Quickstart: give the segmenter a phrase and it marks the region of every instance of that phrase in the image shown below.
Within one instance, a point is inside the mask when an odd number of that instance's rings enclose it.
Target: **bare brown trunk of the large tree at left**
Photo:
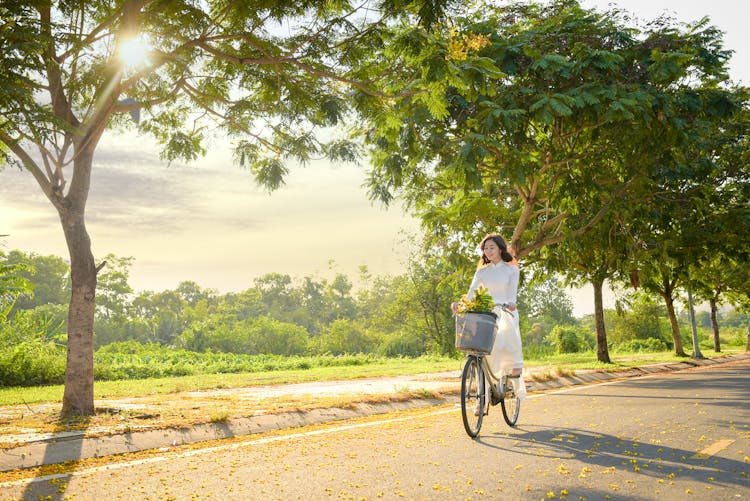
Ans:
[[[79,152],[70,192],[58,207],[70,254],[68,354],[62,403],[62,414],[68,417],[94,414],[94,299],[98,270],[84,217],[92,160],[93,151]]]

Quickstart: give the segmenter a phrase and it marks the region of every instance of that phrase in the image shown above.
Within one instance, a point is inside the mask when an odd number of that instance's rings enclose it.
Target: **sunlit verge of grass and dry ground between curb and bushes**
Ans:
[[[744,352],[726,350],[721,355]],[[705,353],[713,356],[714,353]],[[612,364],[602,364],[596,354],[580,353],[527,360],[530,381],[545,381],[566,376],[582,369],[616,371],[659,362],[688,360],[670,353],[611,354]],[[258,414],[305,412],[319,408],[352,408],[359,404],[379,404],[412,399],[442,398],[455,390],[455,378],[446,378],[445,387],[437,390],[395,386],[388,394],[289,395],[284,398],[264,396],[264,392],[221,391],[275,384],[311,381],[352,380],[451,371],[457,374],[463,358],[384,359],[368,365],[317,367],[245,374],[212,374],[125,381],[102,381],[94,385],[97,413],[81,422],[61,421],[60,402],[63,387],[42,386],[0,389],[0,434],[18,433],[19,429],[35,433],[62,430],[84,430],[89,435],[103,430],[135,432],[141,429],[184,427],[201,423],[222,425],[232,419]],[[200,390],[218,390],[201,392]],[[457,391],[457,390],[456,390]],[[183,392],[183,393],[180,393]],[[106,401],[112,399],[112,401]],[[0,442],[0,450],[12,447]]]

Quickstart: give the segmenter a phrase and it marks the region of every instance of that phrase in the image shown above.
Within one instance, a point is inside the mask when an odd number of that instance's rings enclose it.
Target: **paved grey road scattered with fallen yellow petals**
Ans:
[[[750,499],[749,382],[741,361],[530,395],[478,440],[448,405],[120,456],[0,499]]]

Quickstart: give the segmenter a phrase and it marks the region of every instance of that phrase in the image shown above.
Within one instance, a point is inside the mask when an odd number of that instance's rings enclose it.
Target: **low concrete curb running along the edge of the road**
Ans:
[[[750,359],[750,354],[742,353],[713,359],[691,359],[679,363],[647,365],[617,372],[578,371],[572,375],[560,375],[547,381],[527,381],[527,388],[529,392],[541,392],[568,386],[595,384],[607,380],[626,379],[748,359]],[[0,472],[149,449],[169,449],[170,447],[196,442],[248,436],[451,402],[456,402],[455,396],[357,403],[347,408],[321,408],[304,412],[262,414],[228,419],[221,423],[196,424],[184,428],[102,433],[97,436],[86,436],[85,431],[63,432],[49,437],[28,440],[14,447],[0,449]]]

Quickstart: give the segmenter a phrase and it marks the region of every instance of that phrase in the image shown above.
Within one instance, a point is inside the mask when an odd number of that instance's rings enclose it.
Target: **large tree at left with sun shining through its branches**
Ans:
[[[132,117],[173,161],[202,154],[208,128],[221,126],[236,140],[238,162],[277,188],[285,160],[353,157],[347,142],[322,143],[313,131],[336,125],[352,95],[356,103],[378,93],[381,75],[358,61],[382,46],[389,17],[431,24],[445,3],[385,0],[373,19],[369,2],[345,0],[3,2],[0,151],[33,175],[57,210],[70,255],[63,414],[94,412],[103,264],[92,253],[85,208],[105,131]]]

